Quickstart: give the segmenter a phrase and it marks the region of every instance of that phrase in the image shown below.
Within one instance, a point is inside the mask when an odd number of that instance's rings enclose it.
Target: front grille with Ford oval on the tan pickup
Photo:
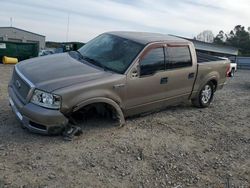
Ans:
[[[12,82],[16,92],[25,100],[30,91],[30,86],[17,74],[15,69],[13,71]]]

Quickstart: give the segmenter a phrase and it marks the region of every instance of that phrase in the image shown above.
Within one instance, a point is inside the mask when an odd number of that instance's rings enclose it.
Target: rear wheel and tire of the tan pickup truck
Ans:
[[[207,108],[213,100],[214,91],[214,84],[212,82],[206,83],[199,92],[199,96],[192,99],[192,104],[198,108]]]

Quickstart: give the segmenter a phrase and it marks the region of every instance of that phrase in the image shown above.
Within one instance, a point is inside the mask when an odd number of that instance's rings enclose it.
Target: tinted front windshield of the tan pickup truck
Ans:
[[[90,63],[123,74],[142,48],[142,44],[131,40],[102,34],[78,51]]]

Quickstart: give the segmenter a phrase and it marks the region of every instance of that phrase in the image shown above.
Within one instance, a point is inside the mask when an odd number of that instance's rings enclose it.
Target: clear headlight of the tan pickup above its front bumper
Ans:
[[[30,102],[45,108],[59,109],[61,106],[61,97],[36,89]]]

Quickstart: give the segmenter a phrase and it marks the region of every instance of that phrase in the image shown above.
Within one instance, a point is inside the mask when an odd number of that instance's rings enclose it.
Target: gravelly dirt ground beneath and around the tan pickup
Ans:
[[[0,188],[250,187],[250,71],[209,108],[169,107],[123,128],[92,119],[67,142],[20,127],[8,105],[12,68],[0,65]]]

